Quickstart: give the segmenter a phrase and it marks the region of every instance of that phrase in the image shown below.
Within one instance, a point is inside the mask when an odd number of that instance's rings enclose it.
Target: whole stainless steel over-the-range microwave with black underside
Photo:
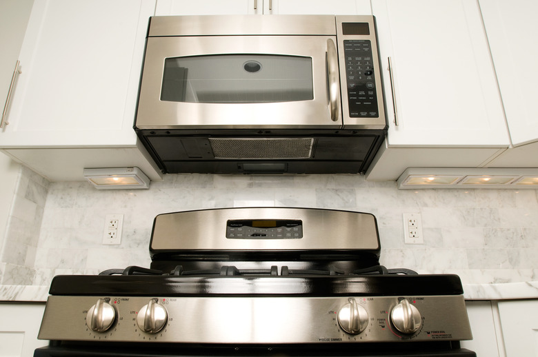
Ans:
[[[166,173],[363,173],[386,134],[372,16],[152,17],[135,130]]]

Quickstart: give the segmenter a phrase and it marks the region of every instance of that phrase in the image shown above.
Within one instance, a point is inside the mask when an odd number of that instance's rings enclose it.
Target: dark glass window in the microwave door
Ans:
[[[161,101],[275,103],[312,99],[310,57],[211,54],[164,62]]]

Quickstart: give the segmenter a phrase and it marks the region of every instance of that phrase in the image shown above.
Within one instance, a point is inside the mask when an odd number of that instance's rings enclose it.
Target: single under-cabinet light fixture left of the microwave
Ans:
[[[150,179],[138,167],[84,169],[83,176],[97,190],[150,188]]]

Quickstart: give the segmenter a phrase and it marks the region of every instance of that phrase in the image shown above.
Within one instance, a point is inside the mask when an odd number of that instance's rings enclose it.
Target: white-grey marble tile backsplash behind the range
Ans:
[[[157,214],[287,206],[375,214],[381,263],[389,268],[455,273],[464,283],[537,281],[537,193],[397,190],[394,182],[373,183],[357,175],[168,174],[152,182],[150,190],[113,191],[94,190],[86,182],[41,183],[17,196],[22,200],[17,210],[23,214],[14,210],[0,272],[3,284],[48,285],[57,274],[147,267]],[[421,245],[403,243],[402,214],[413,212],[422,216]],[[35,214],[32,222],[41,221],[39,227],[26,227],[30,214]],[[106,214],[123,214],[121,245],[101,244]]]

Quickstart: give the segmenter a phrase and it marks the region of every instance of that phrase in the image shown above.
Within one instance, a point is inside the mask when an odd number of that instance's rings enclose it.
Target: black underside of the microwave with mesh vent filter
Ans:
[[[385,130],[137,130],[163,173],[363,174]]]

